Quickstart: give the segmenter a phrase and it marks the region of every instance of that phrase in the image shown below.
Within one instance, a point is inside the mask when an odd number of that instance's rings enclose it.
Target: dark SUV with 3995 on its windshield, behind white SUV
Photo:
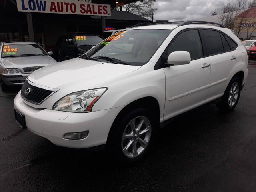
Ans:
[[[54,55],[58,62],[81,56],[104,38],[94,33],[75,33],[58,38]]]

